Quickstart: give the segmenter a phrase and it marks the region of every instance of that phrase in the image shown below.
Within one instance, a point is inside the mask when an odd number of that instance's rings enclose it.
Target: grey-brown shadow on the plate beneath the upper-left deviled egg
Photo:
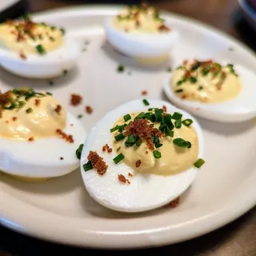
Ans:
[[[52,87],[65,87],[68,86],[78,75],[78,67],[75,66],[74,69],[69,72],[63,70],[63,75],[58,78],[52,79],[30,79],[22,78],[18,75],[11,74],[7,70],[0,68],[1,82],[10,90],[13,88],[26,87],[28,84],[33,84],[34,90],[50,90]],[[0,88],[1,89],[1,88]]]

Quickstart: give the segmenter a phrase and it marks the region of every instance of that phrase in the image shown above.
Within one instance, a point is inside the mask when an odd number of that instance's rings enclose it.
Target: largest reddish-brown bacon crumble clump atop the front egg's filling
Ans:
[[[146,119],[135,119],[126,126],[123,134],[128,136],[133,134],[134,137],[140,137],[144,139],[150,150],[154,150],[154,143],[152,142],[152,136],[158,136],[163,138],[165,135],[160,130],[154,128],[154,125],[149,125],[149,121]]]

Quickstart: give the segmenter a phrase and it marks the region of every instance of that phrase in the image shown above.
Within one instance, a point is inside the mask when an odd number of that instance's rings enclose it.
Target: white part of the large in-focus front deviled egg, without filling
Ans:
[[[198,170],[194,167],[182,173],[169,176],[142,174],[135,172],[134,169],[127,166],[124,162],[119,162],[116,165],[113,162],[113,158],[117,155],[114,150],[111,154],[102,152],[103,145],[106,143],[110,147],[112,145],[113,138],[110,128],[125,114],[147,111],[149,107],[162,108],[164,105],[167,107],[168,113],[178,111],[183,114],[184,118],[194,120],[190,114],[183,110],[178,110],[168,102],[158,100],[150,100],[149,102],[150,106],[144,106],[142,100],[135,100],[111,110],[94,126],[84,144],[81,158],[81,173],[86,190],[95,201],[112,210],[132,213],[164,206],[182,194],[194,181],[196,174],[198,174]],[[202,130],[196,120],[194,120],[193,126],[198,134],[198,158],[202,158]],[[83,164],[88,162],[87,156],[90,150],[96,150],[109,166],[106,174],[100,176],[95,170],[88,170],[86,172],[83,170]],[[129,177],[128,173],[134,174],[134,176]],[[128,178],[130,184],[119,182],[118,174],[123,174]]]

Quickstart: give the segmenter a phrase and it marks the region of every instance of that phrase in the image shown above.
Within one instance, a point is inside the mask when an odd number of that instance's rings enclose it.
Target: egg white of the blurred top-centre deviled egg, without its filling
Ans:
[[[132,34],[122,32],[112,25],[114,17],[106,18],[106,38],[123,54],[134,58],[154,58],[168,53],[178,41],[177,30],[158,34]]]

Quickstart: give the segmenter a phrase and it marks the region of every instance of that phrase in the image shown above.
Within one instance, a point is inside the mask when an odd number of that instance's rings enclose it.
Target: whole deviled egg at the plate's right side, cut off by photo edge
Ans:
[[[256,76],[242,66],[184,61],[164,82],[166,96],[191,114],[217,122],[256,116]]]

